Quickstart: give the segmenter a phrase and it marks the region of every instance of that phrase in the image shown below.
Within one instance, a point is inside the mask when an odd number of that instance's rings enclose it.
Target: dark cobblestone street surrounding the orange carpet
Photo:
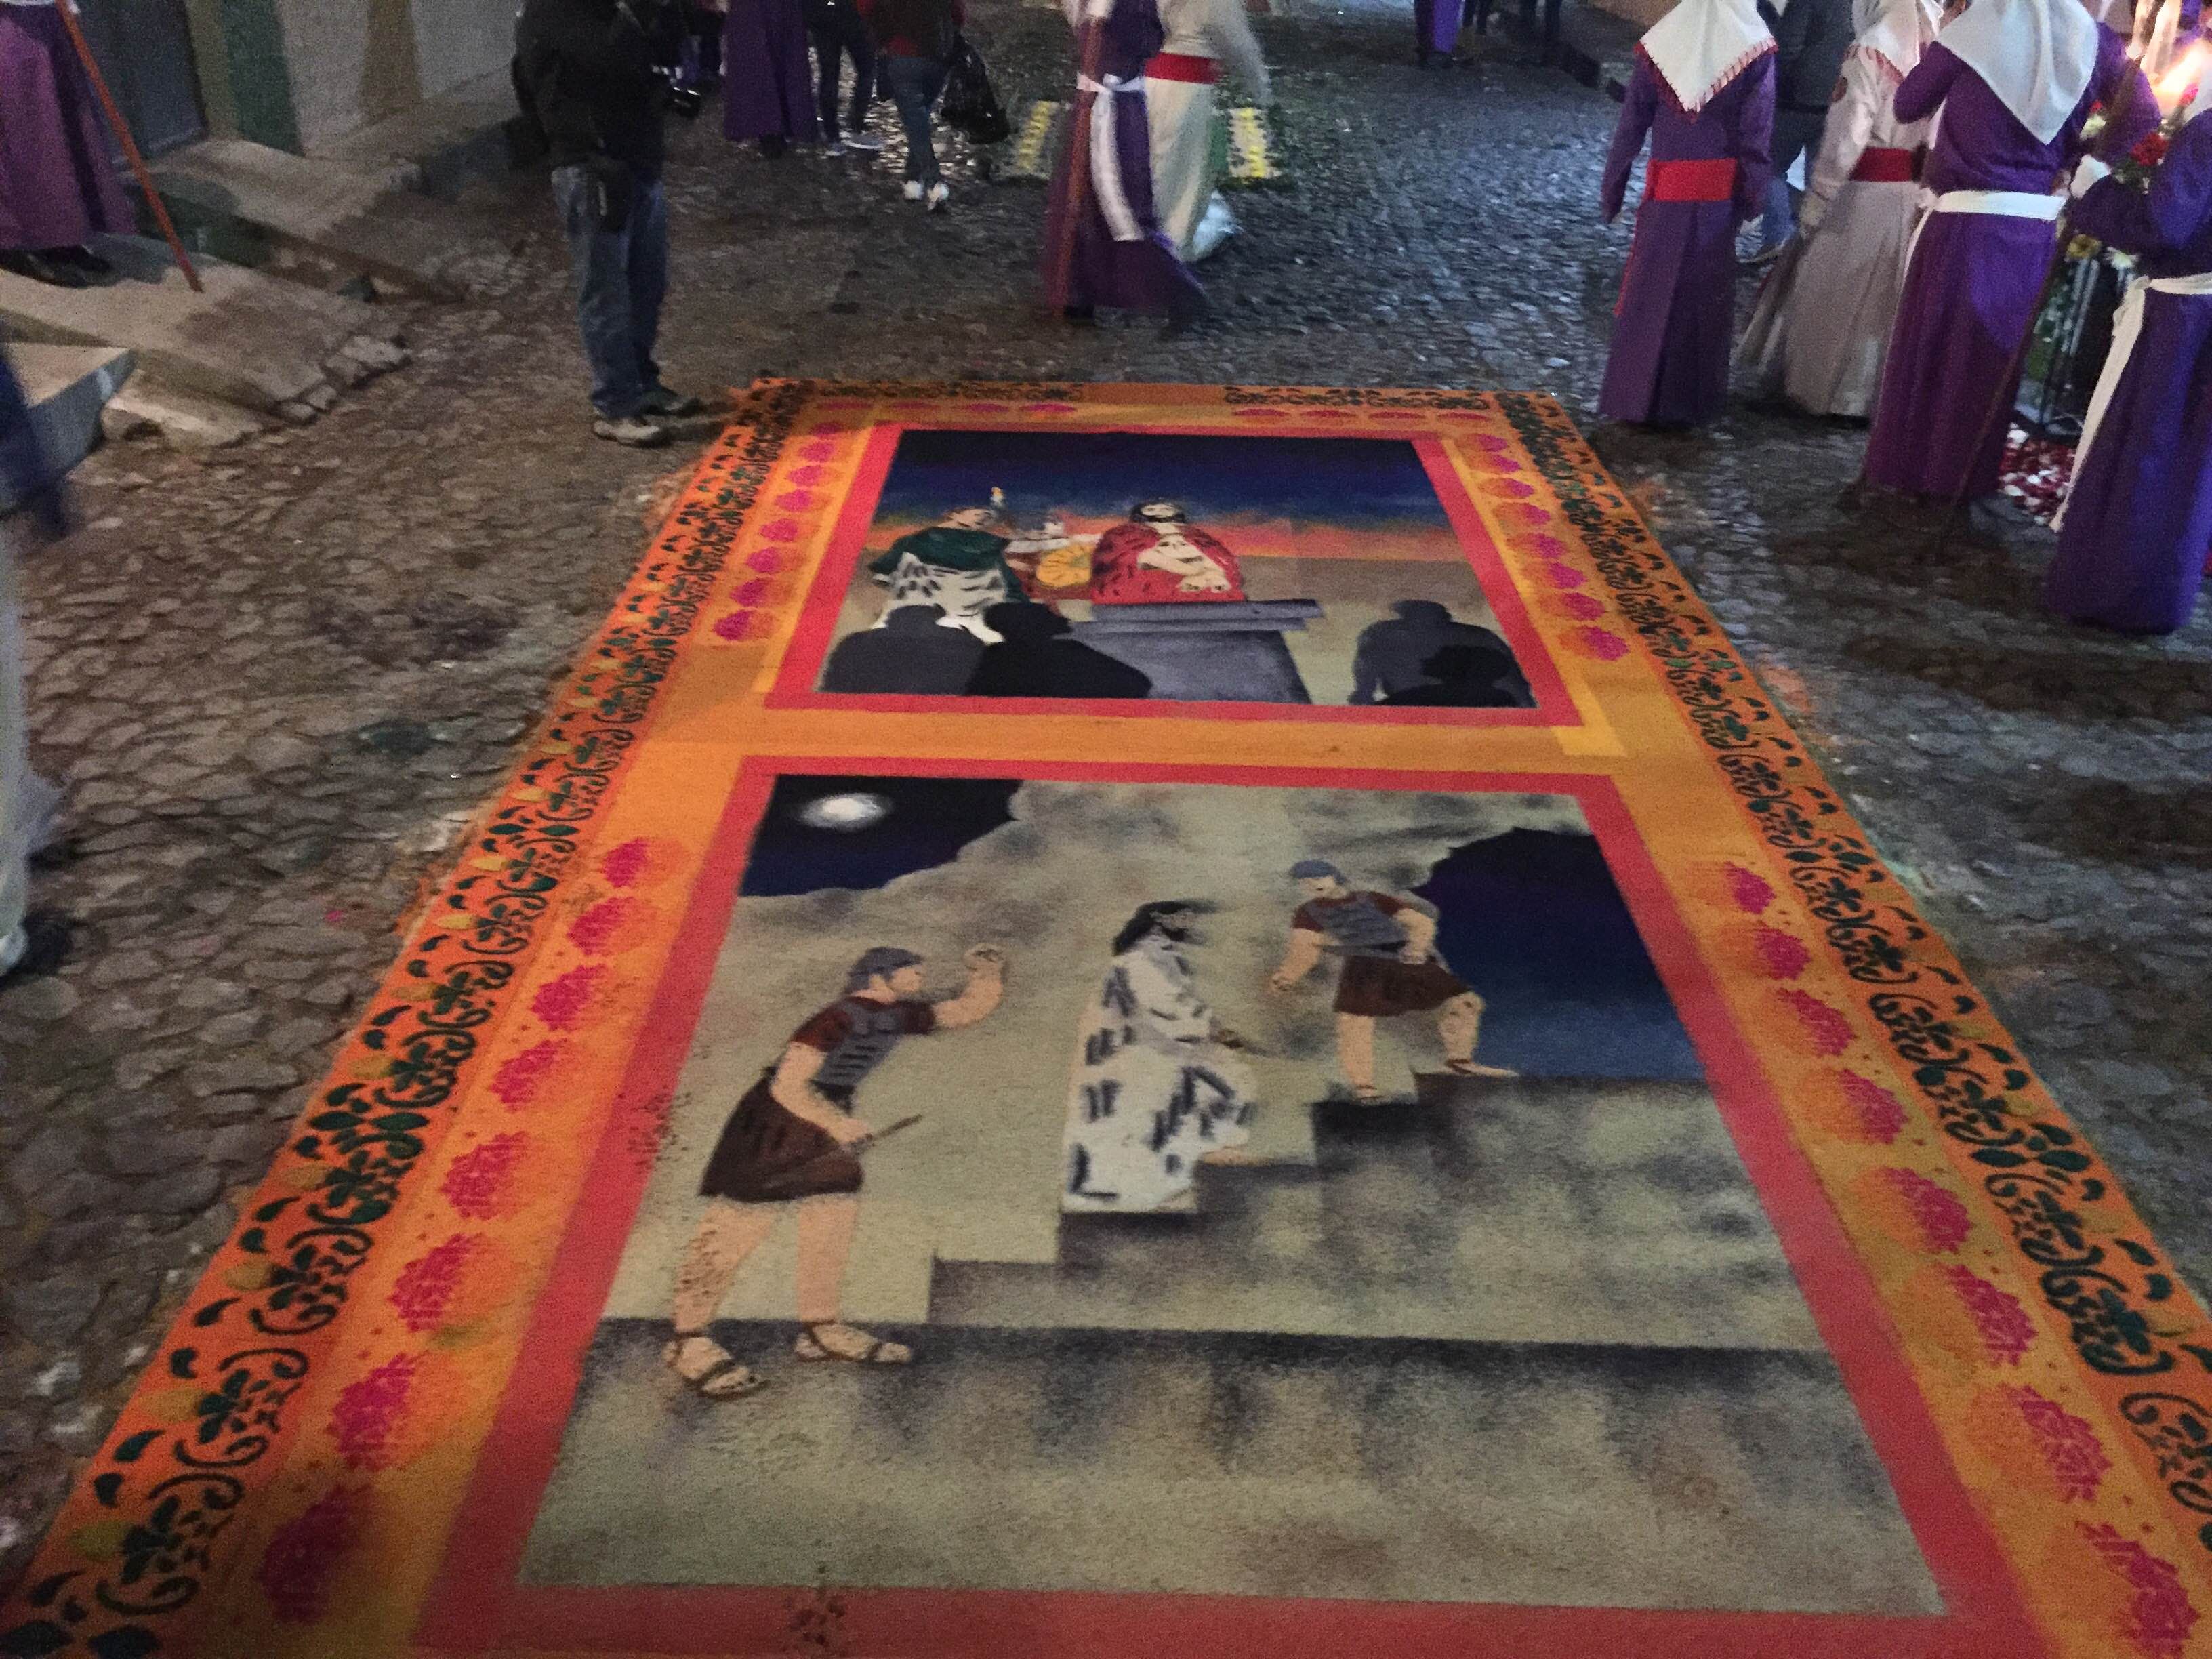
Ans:
[[[973,35],[1015,115],[1057,95],[1057,9],[982,0]],[[710,113],[670,175],[670,378],[1509,387],[1595,422],[1615,104],[1502,38],[1420,73],[1400,9],[1298,0],[1261,38],[1290,179],[1237,197],[1201,332],[1044,319],[1035,184],[960,153],[925,217],[883,159],[765,161]],[[33,905],[75,942],[0,991],[0,1584],[697,456],[591,440],[544,181],[469,199],[526,281],[409,307],[414,363],[312,427],[102,449],[84,531],[22,571],[69,790]],[[2044,531],[1936,557],[1854,515],[1860,429],[1736,405],[1593,440],[2212,1290],[2212,622],[2073,630],[2035,604]]]

